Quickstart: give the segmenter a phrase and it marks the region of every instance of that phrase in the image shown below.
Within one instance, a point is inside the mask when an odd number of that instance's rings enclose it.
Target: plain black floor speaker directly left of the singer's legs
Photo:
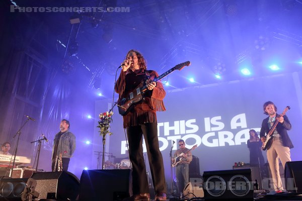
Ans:
[[[131,193],[131,170],[83,170],[80,201],[122,200]]]

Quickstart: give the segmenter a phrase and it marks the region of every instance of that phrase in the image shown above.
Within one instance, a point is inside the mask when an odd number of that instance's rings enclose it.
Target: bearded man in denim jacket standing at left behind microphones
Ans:
[[[52,148],[52,171],[67,171],[70,158],[75,150],[75,136],[70,132],[70,123],[63,119],[60,123],[60,132],[54,136]],[[44,139],[47,138],[44,136]],[[58,162],[60,161],[60,163]],[[62,167],[59,167],[60,164]]]

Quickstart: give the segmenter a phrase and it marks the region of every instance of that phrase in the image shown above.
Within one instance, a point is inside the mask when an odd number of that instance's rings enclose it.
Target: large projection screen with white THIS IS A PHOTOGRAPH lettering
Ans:
[[[266,118],[262,107],[268,100],[275,103],[279,114],[286,106],[291,107],[286,114],[292,125],[288,133],[295,146],[291,149],[291,158],[302,160],[301,80],[301,73],[291,73],[175,90],[166,87],[164,101],[167,111],[158,112],[158,131],[168,184],[171,179],[169,152],[173,140],[176,142],[173,153],[178,148],[179,139],[185,140],[188,148],[198,145],[192,153],[199,158],[201,174],[209,170],[232,169],[234,162],[249,163],[249,130],[255,129],[259,134],[262,120]],[[95,126],[98,114],[108,111],[111,104],[112,99],[96,102]],[[127,157],[127,148],[122,117],[117,108],[114,113],[113,135],[107,138],[105,151],[112,153],[118,161],[118,158]],[[102,150],[97,129],[93,149]],[[266,158],[266,152],[263,155]],[[116,162],[111,154],[109,156],[106,160]],[[96,158],[93,161],[96,167]],[[147,158],[145,161],[147,164]]]

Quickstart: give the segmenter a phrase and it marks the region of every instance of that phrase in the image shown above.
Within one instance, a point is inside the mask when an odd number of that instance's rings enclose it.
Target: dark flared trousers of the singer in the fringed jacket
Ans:
[[[127,128],[129,158],[132,163],[133,194],[149,192],[142,150],[142,135],[156,193],[167,192],[163,156],[159,148],[157,123],[145,123]]]

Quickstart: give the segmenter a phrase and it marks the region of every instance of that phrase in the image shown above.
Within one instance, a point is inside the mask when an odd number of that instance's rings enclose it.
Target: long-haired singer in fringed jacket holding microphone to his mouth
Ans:
[[[149,201],[149,186],[142,151],[142,135],[145,139],[149,166],[155,189],[155,200],[166,200],[166,180],[162,153],[159,148],[157,111],[165,111],[163,99],[166,95],[162,82],[152,82],[159,76],[154,70],[147,70],[146,62],[137,50],[130,50],[121,65],[121,72],[115,84],[119,100],[126,97],[140,83],[145,82],[144,98],[123,116],[127,132],[129,159],[132,163],[133,195],[125,200]],[[118,104],[119,101],[118,101]]]

